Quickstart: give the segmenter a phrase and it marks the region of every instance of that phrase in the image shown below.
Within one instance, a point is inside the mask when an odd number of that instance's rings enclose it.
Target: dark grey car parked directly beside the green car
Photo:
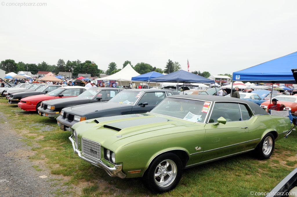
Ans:
[[[63,131],[70,131],[72,125],[83,120],[149,112],[171,95],[178,95],[178,93],[171,90],[155,89],[123,90],[107,102],[64,108],[61,115],[57,117],[57,121]]]

